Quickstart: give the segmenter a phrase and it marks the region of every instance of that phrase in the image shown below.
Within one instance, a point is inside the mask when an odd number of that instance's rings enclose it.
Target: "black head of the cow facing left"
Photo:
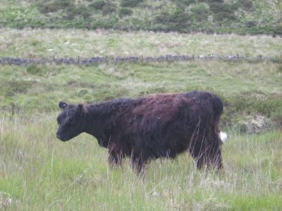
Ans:
[[[59,129],[57,138],[61,141],[68,141],[78,136],[85,130],[85,108],[82,104],[68,105],[65,102],[59,103],[62,112],[57,117]]]

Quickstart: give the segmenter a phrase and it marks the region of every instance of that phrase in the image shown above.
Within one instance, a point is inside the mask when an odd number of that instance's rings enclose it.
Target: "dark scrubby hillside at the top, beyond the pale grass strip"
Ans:
[[[0,27],[282,35],[282,2],[2,0]]]

